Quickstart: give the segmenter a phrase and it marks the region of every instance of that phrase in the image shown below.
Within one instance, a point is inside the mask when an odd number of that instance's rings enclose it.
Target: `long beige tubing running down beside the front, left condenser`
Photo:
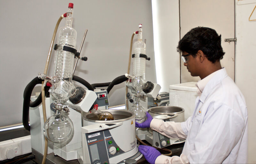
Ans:
[[[53,48],[53,43],[54,43],[55,36],[56,36],[57,30],[58,30],[58,27],[60,25],[60,21],[61,21],[62,18],[64,18],[63,15],[59,18],[58,22],[55,25],[55,29],[54,29],[53,36],[52,36],[51,46],[50,46],[50,49],[49,49],[49,53],[48,53],[48,56],[47,56],[47,61],[46,61],[45,68],[44,68],[44,74],[45,75],[47,74],[47,71],[48,71],[49,62],[50,62],[51,53],[52,53],[52,48]],[[43,106],[43,116],[44,116],[44,123],[45,123],[45,121],[46,121],[46,110],[45,110],[44,82],[42,82],[42,106]],[[44,137],[44,157],[43,157],[42,164],[44,164],[45,161],[46,161],[47,151],[48,151],[48,140],[46,139],[46,137]]]

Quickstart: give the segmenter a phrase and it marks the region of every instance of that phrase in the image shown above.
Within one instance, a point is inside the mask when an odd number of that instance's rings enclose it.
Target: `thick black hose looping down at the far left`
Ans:
[[[29,117],[29,105],[30,105],[30,97],[34,87],[37,84],[42,84],[43,80],[35,77],[31,82],[28,83],[24,90],[23,94],[23,113],[22,113],[22,123],[26,130],[30,131],[30,126],[28,124],[28,117]],[[42,101],[41,101],[42,102]],[[38,102],[37,102],[38,103]]]

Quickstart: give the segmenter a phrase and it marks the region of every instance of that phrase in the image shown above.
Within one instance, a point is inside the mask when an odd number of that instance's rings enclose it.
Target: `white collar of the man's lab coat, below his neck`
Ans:
[[[227,71],[226,68],[222,68],[207,82],[207,84],[204,87],[204,90],[202,92],[202,95],[200,96],[199,100],[204,103],[206,97],[209,95],[209,93],[212,91],[212,89],[225,77],[227,77]]]

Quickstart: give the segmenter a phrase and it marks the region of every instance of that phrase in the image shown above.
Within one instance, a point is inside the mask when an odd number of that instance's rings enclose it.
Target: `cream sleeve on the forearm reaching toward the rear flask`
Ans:
[[[169,137],[186,139],[187,135],[183,132],[180,123],[174,121],[166,121],[153,118],[150,123],[150,128]]]

